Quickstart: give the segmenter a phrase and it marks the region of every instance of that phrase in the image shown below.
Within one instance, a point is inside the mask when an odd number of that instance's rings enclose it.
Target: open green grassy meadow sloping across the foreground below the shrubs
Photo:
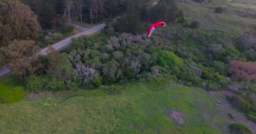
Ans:
[[[0,133],[224,134],[228,125],[202,89],[154,82],[126,86],[119,95],[78,93],[55,107],[43,101],[0,104]],[[182,112],[184,126],[168,117],[169,110]]]

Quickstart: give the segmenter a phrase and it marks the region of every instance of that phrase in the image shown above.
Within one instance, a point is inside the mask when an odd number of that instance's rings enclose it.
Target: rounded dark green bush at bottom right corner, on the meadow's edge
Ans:
[[[248,126],[244,124],[230,124],[229,130],[232,134],[253,134]]]

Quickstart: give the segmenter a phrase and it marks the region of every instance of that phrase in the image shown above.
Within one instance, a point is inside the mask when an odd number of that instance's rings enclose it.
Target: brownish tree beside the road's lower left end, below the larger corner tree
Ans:
[[[35,46],[35,41],[14,40],[9,46],[1,47],[1,50],[5,62],[20,80],[34,74],[42,66],[38,59],[40,48]]]

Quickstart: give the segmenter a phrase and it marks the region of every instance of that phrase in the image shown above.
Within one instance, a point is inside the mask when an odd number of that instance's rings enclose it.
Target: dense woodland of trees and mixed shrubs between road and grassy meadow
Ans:
[[[216,8],[215,13],[221,12]],[[120,18],[112,24],[117,15]],[[96,23],[105,18],[109,21],[100,36],[72,39],[61,53],[49,46],[47,56],[35,55],[41,28],[65,29],[64,22]],[[168,26],[149,38],[147,30],[156,21]],[[188,21],[173,0],[155,5],[149,0],[1,0],[0,46],[0,65],[8,64],[34,93],[102,88],[115,94],[122,92],[119,85],[131,82],[174,80],[232,91],[236,95],[228,99],[256,122],[253,35],[231,37],[200,28],[200,22]]]

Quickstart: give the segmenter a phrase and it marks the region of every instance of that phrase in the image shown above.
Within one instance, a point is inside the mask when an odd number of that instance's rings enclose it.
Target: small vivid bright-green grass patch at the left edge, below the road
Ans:
[[[0,79],[0,99],[3,103],[14,103],[24,99],[24,87],[12,76]]]

